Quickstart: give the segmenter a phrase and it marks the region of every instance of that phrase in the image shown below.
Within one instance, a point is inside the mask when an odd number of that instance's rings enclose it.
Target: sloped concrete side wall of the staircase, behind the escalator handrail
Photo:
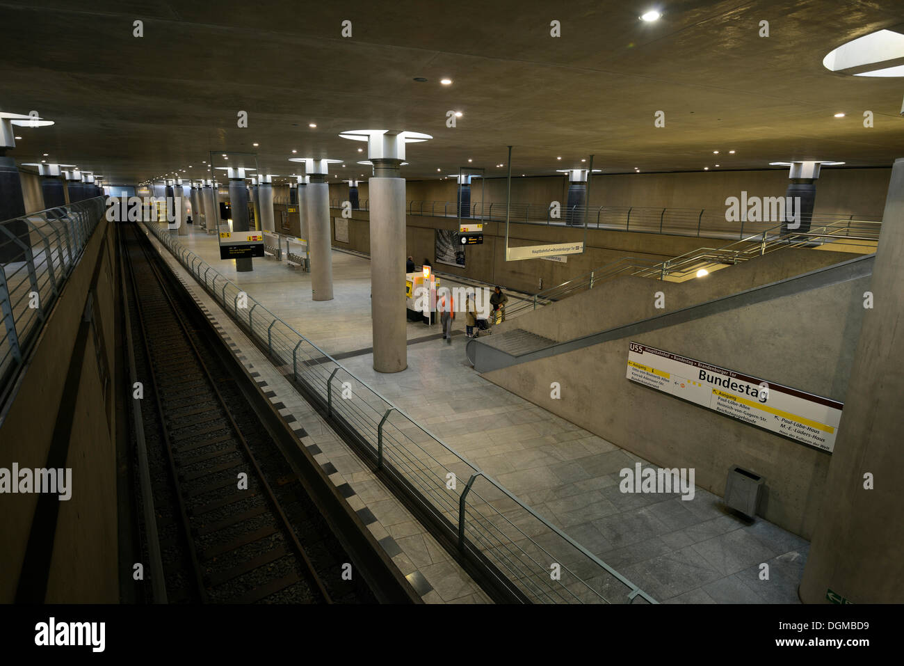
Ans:
[[[496,332],[523,328],[559,342],[598,333],[687,308],[707,300],[815,271],[852,258],[844,252],[816,252],[793,249],[772,252],[762,257],[714,271],[704,278],[669,282],[653,278],[623,275],[597,283],[565,300],[541,307],[497,325]],[[662,292],[662,309],[657,309],[657,294]]]

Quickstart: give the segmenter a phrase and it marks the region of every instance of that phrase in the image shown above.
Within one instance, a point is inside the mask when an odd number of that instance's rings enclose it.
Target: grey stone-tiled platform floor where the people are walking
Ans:
[[[376,373],[368,259],[334,252],[334,300],[313,301],[309,276],[284,263],[255,259],[240,273],[219,259],[214,236],[192,228],[177,240],[658,601],[799,603],[805,539],[748,524],[706,490],[691,501],[621,493],[618,471],[649,463],[478,376],[464,318],[451,345],[438,327],[410,322],[408,369]]]

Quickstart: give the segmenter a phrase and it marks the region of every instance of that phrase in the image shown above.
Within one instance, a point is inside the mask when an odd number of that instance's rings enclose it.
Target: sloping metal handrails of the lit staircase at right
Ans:
[[[573,280],[536,293],[532,301],[523,301],[507,309],[505,318],[512,319],[580,291],[593,289],[602,282],[613,280],[621,275],[634,275],[654,280],[683,281],[698,271],[710,272],[711,269],[717,267],[722,268],[726,265],[746,262],[778,250],[813,248],[828,243],[843,243],[874,250],[879,242],[880,229],[880,222],[865,220],[811,224],[805,232],[783,229],[782,224],[777,224],[740,241],[718,248],[698,248],[664,262],[654,262],[637,257],[622,257]]]

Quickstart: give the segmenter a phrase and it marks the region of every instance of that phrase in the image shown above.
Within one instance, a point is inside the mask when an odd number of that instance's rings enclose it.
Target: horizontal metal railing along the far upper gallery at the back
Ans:
[[[341,199],[330,201],[330,207],[342,206]],[[362,199],[358,210],[369,210],[369,201]],[[409,201],[405,205],[409,215],[422,217],[456,217],[454,201]],[[553,215],[558,215],[553,217]],[[477,221],[504,222],[505,202],[471,204],[468,216]],[[771,214],[770,214],[771,216]],[[624,231],[636,233],[664,233],[667,235],[727,238],[743,240],[750,234],[763,233],[775,222],[728,222],[725,209],[707,211],[705,208],[654,208],[647,206],[567,206],[558,211],[549,205],[532,205],[513,202],[510,221],[519,224],[545,224],[583,228],[587,220],[589,229]],[[780,216],[774,219],[781,219]],[[856,222],[863,215],[854,214],[814,214],[812,224],[833,224]]]

